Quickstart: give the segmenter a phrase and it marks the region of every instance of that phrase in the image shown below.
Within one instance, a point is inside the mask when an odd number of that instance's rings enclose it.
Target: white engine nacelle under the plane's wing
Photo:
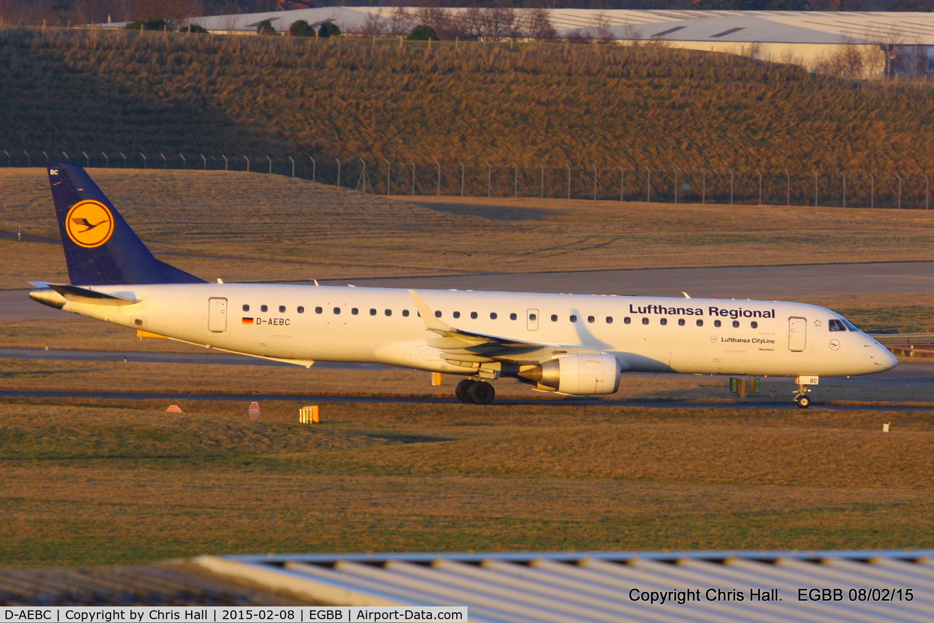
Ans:
[[[615,355],[607,353],[561,355],[522,374],[538,381],[541,389],[588,396],[616,392],[624,366]]]

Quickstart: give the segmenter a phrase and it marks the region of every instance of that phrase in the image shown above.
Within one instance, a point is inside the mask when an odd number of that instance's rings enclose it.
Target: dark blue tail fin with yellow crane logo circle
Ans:
[[[75,163],[46,163],[72,284],[204,283],[160,262]]]

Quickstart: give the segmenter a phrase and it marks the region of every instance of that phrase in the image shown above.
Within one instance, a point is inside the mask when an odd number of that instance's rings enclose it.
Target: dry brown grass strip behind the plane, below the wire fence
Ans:
[[[934,259],[934,213],[559,199],[385,198],[220,171],[93,170],[160,257],[208,279],[539,272]],[[42,169],[0,170],[0,226],[57,231]],[[742,223],[740,232],[737,224]],[[7,242],[0,287],[62,275],[61,249]]]

